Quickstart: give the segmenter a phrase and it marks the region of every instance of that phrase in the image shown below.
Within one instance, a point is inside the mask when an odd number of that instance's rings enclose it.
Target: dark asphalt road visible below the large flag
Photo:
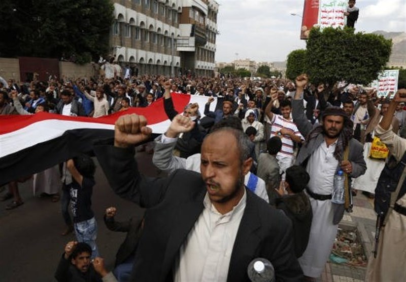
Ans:
[[[152,155],[137,153],[140,170],[148,176],[156,176],[159,172],[151,158]],[[112,270],[125,233],[108,230],[103,222],[104,212],[114,206],[118,210],[116,220],[124,221],[140,212],[140,208],[114,194],[99,166],[95,180],[92,209],[98,226],[97,246],[108,270]],[[29,181],[20,184],[19,188],[24,205],[7,211],[5,208],[10,200],[0,202],[0,282],[56,281],[53,276],[64,246],[67,241],[74,240],[75,235],[60,235],[65,228],[60,202],[34,197]]]

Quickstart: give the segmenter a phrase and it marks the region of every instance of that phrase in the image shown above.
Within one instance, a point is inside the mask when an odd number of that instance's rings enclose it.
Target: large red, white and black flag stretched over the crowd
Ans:
[[[172,94],[175,110],[183,112],[188,103],[198,103],[204,116],[208,97]],[[217,99],[210,105],[215,110]],[[153,133],[161,134],[170,125],[163,108],[163,99],[146,108],[98,118],[63,116],[41,112],[32,115],[0,115],[0,185],[41,172],[72,158],[90,152],[93,143],[114,137],[114,123],[123,114],[136,113],[147,118]]]

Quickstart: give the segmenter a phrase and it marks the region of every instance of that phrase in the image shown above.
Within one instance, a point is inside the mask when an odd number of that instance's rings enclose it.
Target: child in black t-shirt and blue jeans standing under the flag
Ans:
[[[79,242],[87,243],[91,247],[92,258],[95,258],[98,256],[97,223],[91,209],[91,196],[95,184],[93,176],[96,167],[93,160],[85,154],[67,160],[66,167],[73,178],[68,188],[76,238]]]

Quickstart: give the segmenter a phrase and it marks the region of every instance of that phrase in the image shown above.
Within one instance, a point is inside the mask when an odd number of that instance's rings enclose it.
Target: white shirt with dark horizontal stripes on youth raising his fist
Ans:
[[[277,132],[280,131],[282,128],[288,129],[293,132],[294,135],[299,136],[301,140],[304,140],[303,136],[300,134],[299,130],[297,129],[296,125],[293,123],[292,120],[287,120],[283,118],[282,115],[275,114],[273,115],[272,120],[270,121],[272,124],[272,128],[270,129],[270,137],[274,137],[277,135]],[[282,149],[278,153],[277,156],[283,157],[292,157],[293,156],[293,140],[290,138],[289,135],[283,135],[282,138]]]

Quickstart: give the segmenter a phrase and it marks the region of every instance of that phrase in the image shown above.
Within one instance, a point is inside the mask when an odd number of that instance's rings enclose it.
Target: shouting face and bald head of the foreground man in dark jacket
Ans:
[[[212,203],[227,203],[241,194],[245,171],[236,152],[237,142],[229,132],[215,132],[203,141],[200,171]]]

